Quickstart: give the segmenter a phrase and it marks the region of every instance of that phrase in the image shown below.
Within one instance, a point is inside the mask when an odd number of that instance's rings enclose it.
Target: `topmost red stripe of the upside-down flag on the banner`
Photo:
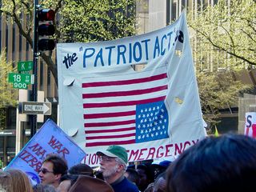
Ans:
[[[95,86],[120,86],[120,85],[130,85],[135,83],[142,83],[142,82],[152,82],[162,78],[167,78],[167,74],[158,74],[152,77],[147,78],[137,78],[137,79],[130,79],[130,80],[122,80],[122,81],[113,81],[113,82],[83,82],[82,88],[86,87],[95,87]]]

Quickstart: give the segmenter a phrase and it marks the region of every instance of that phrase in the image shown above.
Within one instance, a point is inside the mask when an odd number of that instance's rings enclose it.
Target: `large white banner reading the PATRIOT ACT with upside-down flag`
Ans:
[[[60,124],[90,166],[110,145],[134,162],[176,156],[205,137],[185,14],[149,34],[60,43],[57,59]]]

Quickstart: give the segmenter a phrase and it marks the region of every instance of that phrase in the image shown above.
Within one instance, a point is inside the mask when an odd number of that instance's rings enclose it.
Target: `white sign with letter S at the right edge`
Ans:
[[[256,112],[246,113],[245,135],[256,138]]]

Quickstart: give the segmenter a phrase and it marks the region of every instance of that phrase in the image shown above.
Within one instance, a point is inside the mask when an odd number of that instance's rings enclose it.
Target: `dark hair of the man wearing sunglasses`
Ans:
[[[54,174],[66,174],[66,171],[68,169],[66,161],[58,156],[57,154],[50,154],[46,157],[46,159],[43,162],[51,162],[54,165]]]

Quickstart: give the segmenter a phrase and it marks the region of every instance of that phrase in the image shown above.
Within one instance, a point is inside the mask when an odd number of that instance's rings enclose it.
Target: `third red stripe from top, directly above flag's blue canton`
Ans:
[[[84,103],[83,108],[96,108],[96,107],[110,107],[110,106],[135,106],[139,104],[146,104],[150,102],[160,102],[164,100],[166,96],[158,98],[149,98],[138,101],[129,101],[129,102],[101,102],[101,103]]]

